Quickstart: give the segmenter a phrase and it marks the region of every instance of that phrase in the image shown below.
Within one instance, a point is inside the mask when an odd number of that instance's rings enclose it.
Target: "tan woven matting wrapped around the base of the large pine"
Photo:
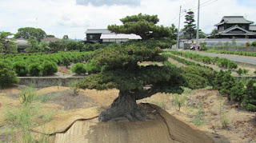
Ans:
[[[214,142],[200,130],[179,121],[157,105],[148,104],[162,116],[162,119],[136,122],[92,122],[78,121],[97,117],[102,108],[82,109],[77,113],[54,118],[57,121],[33,129],[36,132],[56,133],[55,142],[62,143],[115,143],[115,142]],[[88,112],[88,113],[87,113]],[[89,115],[87,117],[87,115]],[[73,117],[70,117],[73,116]],[[66,117],[66,118],[61,118]],[[74,123],[74,124],[73,124]],[[63,132],[63,133],[62,133]]]

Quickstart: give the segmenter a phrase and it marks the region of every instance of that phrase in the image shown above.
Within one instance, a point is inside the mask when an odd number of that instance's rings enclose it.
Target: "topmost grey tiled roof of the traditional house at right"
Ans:
[[[224,16],[218,24],[215,26],[222,25],[224,23],[227,24],[252,24],[254,22],[250,22],[249,20],[246,20],[243,16]]]

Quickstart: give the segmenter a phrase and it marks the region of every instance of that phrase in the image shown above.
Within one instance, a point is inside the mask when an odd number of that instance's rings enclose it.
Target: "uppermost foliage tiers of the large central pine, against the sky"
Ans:
[[[116,34],[137,34],[143,40],[150,38],[170,37],[171,30],[168,27],[157,26],[158,15],[138,14],[126,16],[120,19],[122,26],[110,25],[108,30]]]

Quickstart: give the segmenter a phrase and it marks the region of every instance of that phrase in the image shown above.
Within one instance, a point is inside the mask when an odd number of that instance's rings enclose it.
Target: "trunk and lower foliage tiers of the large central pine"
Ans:
[[[158,47],[108,47],[92,55],[90,66],[98,69],[78,83],[82,89],[119,89],[119,96],[110,109],[102,111],[99,121],[126,117],[129,121],[143,121],[136,100],[158,92],[181,93],[184,80],[181,69],[167,62]],[[142,62],[156,62],[142,66]]]

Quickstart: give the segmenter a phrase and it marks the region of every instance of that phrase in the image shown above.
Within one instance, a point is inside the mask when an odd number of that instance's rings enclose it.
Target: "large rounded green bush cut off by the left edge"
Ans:
[[[16,73],[5,62],[0,61],[0,88],[16,83],[18,78]]]

